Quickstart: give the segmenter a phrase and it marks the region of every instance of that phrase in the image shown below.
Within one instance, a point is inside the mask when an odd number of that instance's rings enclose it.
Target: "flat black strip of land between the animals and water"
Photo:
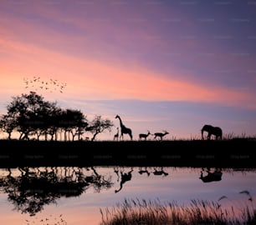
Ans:
[[[45,142],[0,140],[0,168],[256,168],[255,139],[223,141]]]

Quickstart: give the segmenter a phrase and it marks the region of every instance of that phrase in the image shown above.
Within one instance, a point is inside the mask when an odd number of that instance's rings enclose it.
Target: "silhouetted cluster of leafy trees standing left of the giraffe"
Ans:
[[[109,119],[95,116],[91,122],[78,109],[61,108],[57,102],[45,101],[36,92],[13,97],[8,103],[7,113],[0,117],[0,130],[8,133],[12,139],[13,133],[19,133],[19,140],[81,140],[82,135],[90,132],[94,141],[99,133],[111,131],[114,126]],[[71,138],[70,138],[71,136]],[[49,138],[50,137],[50,138]]]

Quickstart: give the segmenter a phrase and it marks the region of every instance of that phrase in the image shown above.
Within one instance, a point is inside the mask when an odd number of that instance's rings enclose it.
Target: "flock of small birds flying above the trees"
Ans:
[[[28,78],[24,77],[23,82],[25,88],[32,91],[44,90],[49,92],[64,92],[64,88],[67,86],[65,82],[59,82],[56,79],[50,78],[48,81],[42,80],[41,77]]]

